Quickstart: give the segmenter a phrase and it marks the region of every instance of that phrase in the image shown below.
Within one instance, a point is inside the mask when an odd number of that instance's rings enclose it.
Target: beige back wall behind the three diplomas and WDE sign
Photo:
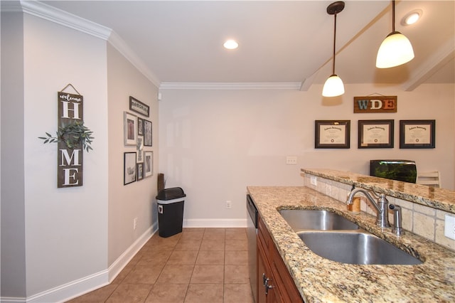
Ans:
[[[368,174],[370,159],[410,159],[441,171],[454,189],[454,85],[346,85],[343,97],[326,99],[321,89],[163,90],[160,169],[167,187],[188,195],[185,224],[245,225],[246,186],[302,185],[301,167]],[[397,95],[398,112],[353,114],[353,97],[375,92]],[[350,149],[314,149],[316,119],[350,119]],[[358,119],[395,119],[395,148],[358,149]],[[400,119],[436,119],[436,148],[400,149]],[[286,165],[286,156],[298,164]]]

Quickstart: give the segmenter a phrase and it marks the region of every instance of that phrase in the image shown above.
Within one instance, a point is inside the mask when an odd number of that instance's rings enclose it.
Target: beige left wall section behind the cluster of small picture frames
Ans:
[[[107,46],[108,115],[109,115],[109,266],[134,241],[156,225],[156,176],[158,171],[158,100],[157,88],[138,72],[110,44]],[[149,105],[150,117],[129,110],[129,96]],[[124,152],[137,151],[124,146],[123,113],[129,112],[152,122],[154,174],[141,181],[123,185]],[[133,220],[137,218],[137,229]],[[155,228],[156,230],[156,228]]]

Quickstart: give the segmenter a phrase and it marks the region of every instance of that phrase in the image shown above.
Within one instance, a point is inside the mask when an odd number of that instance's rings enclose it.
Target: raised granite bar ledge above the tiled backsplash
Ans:
[[[301,171],[343,184],[376,191],[377,193],[385,193],[387,196],[412,201],[440,209],[441,211],[455,213],[455,191],[448,189],[422,186],[375,176],[365,176],[350,171],[336,171],[331,169],[301,169]]]

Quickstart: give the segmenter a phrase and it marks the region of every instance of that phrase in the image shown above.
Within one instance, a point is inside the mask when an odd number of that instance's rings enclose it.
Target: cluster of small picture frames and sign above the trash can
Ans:
[[[136,98],[129,96],[129,110],[123,113],[124,145],[134,146],[136,151],[124,152],[123,185],[140,181],[154,174],[154,152],[147,150],[153,146],[150,107]],[[144,117],[139,117],[139,115]]]

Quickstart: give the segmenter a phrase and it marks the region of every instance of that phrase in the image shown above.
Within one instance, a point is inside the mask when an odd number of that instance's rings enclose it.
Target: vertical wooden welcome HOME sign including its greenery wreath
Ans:
[[[44,143],[58,144],[57,161],[57,187],[75,187],[83,184],[83,153],[92,149],[92,134],[84,126],[84,97],[77,94],[65,92],[68,87],[75,87],[71,84],[66,85],[63,90],[57,92],[58,101],[58,131],[56,136],[46,132],[47,137],[39,137]]]

